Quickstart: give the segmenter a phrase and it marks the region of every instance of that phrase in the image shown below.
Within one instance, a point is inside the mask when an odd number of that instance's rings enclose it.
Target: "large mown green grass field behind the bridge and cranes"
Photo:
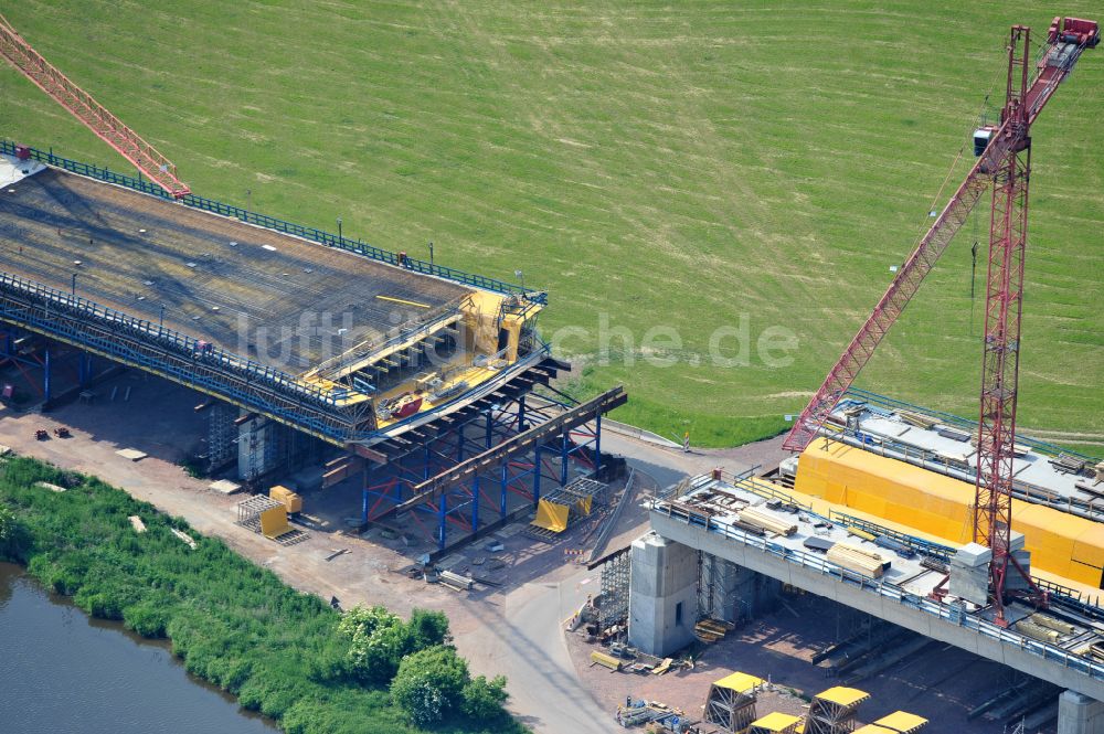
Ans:
[[[23,0],[4,12],[198,193],[245,204],[252,190],[265,213],[329,228],[341,216],[383,247],[424,257],[432,240],[438,262],[523,270],[551,291],[545,336],[586,365],[578,390],[623,382],[631,401],[615,417],[726,445],[783,428],[877,302],[986,93],[1002,96],[1008,26],[1041,38],[1055,12],[1101,10]],[[13,71],[0,92],[3,137],[126,168]],[[1021,426],[1086,440],[1104,433],[1102,120],[1104,49],[1034,128],[1020,372]],[[861,386],[975,413],[974,227]],[[749,363],[714,364],[711,334],[742,315]],[[603,359],[602,322],[633,343],[611,339]],[[645,342],[655,327],[681,344]],[[760,359],[772,327],[797,339],[788,366]],[[733,357],[734,338],[721,343]]]

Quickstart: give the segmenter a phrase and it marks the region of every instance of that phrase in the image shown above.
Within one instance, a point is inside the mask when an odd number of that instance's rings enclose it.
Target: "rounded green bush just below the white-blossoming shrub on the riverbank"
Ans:
[[[456,650],[437,645],[405,658],[391,682],[391,698],[416,726],[444,721],[464,701],[468,664]]]

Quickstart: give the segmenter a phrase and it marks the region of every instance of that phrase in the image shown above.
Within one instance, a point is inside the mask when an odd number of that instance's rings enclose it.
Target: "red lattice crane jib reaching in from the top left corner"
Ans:
[[[0,15],[0,55],[174,199],[191,193],[177,178],[172,161],[43,58],[3,15]]]

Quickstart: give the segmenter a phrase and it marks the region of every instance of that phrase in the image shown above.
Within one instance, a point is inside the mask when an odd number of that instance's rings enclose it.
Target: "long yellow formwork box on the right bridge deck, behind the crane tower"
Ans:
[[[973,536],[974,486],[870,451],[824,440],[802,454],[796,491],[952,543]],[[1031,566],[1100,588],[1104,524],[1012,499],[1012,530],[1023,533]]]

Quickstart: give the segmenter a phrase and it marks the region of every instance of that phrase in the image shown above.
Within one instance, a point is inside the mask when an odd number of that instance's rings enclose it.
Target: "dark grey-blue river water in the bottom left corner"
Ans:
[[[89,619],[0,563],[0,733],[273,734],[168,643]]]

